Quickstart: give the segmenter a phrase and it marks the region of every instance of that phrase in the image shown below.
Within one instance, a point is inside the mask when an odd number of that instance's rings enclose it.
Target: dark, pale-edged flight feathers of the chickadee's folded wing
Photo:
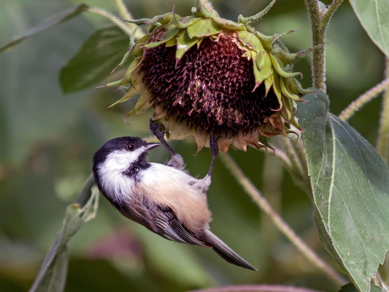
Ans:
[[[156,216],[156,226],[161,235],[172,241],[209,247],[193,236],[177,219],[171,208],[159,207]]]

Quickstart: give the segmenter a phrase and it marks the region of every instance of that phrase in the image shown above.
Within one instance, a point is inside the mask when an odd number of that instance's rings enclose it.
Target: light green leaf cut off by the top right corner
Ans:
[[[350,4],[370,39],[389,56],[389,1],[350,0]]]

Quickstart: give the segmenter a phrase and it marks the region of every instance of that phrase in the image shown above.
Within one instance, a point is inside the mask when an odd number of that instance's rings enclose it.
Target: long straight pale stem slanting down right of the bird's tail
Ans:
[[[315,267],[320,269],[326,276],[337,285],[344,285],[346,281],[339,276],[335,270],[329,266],[324,260],[322,260],[297,234],[293,229],[281,218],[281,216],[274,211],[272,206],[266,201],[265,197],[259,192],[254,184],[245,176],[240,167],[228,154],[221,153],[221,160],[226,165],[227,169],[230,170],[231,174],[237,179],[242,185],[245,192],[250,195],[254,202],[259,208],[270,217],[273,223],[278,229],[300,250],[307,259],[314,264]]]

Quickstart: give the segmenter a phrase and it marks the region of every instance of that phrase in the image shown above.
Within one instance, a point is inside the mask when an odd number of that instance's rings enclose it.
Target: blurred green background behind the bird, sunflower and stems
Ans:
[[[135,18],[152,18],[172,9],[170,0],[125,1]],[[176,13],[190,14],[195,1],[175,0]],[[268,0],[214,0],[227,19],[262,10]],[[324,1],[329,4],[331,1]],[[86,3],[117,14],[107,0],[1,0],[0,46],[49,16]],[[145,136],[151,113],[123,116],[135,99],[111,109],[123,92],[94,89],[123,75],[64,94],[59,72],[82,43],[110,21],[90,13],[50,28],[0,54],[0,291],[26,291],[61,229],[66,206],[74,201],[91,169],[94,151],[113,137]],[[310,47],[310,28],[302,0],[279,0],[256,28],[266,34],[301,28],[282,40],[291,51]],[[334,114],[382,79],[384,57],[344,2],[327,34],[327,86]],[[123,54],[127,47],[123,47]],[[119,60],[121,56],[119,56]],[[126,67],[126,66],[124,66]],[[109,76],[109,68],[106,76]],[[296,64],[309,87],[310,57]],[[375,145],[380,98],[350,120]],[[193,175],[206,174],[208,149],[197,156],[193,141],[171,142]],[[336,268],[321,246],[310,198],[294,186],[276,158],[262,151],[230,150],[245,173],[284,219],[319,255]],[[149,155],[163,162],[168,153]],[[69,243],[65,291],[186,291],[240,283],[277,283],[336,291],[334,286],[261,214],[218,160],[208,192],[211,228],[255,273],[227,264],[206,248],[166,241],[117,213],[105,199],[97,216]],[[345,276],[346,277],[346,276]]]

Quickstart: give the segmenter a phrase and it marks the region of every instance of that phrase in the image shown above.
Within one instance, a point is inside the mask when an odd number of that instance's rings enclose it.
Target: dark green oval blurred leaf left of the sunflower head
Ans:
[[[82,90],[102,81],[122,60],[128,43],[128,35],[117,26],[97,30],[62,68],[62,90],[65,93]]]

